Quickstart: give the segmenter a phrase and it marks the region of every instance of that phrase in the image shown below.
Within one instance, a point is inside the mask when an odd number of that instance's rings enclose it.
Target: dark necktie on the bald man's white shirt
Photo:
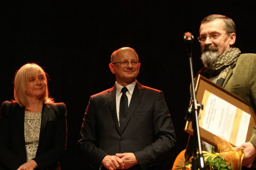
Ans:
[[[121,91],[122,91],[122,96],[121,96],[120,105],[119,105],[119,124],[120,124],[120,129],[122,131],[124,127],[127,110],[128,110],[128,98],[126,96],[126,91],[128,91],[128,89],[126,87],[123,87]]]

